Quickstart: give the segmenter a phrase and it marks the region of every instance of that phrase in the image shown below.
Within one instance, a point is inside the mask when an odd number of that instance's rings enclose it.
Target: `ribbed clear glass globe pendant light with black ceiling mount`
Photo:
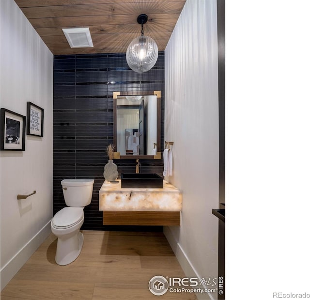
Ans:
[[[158,58],[158,47],[155,41],[143,33],[143,24],[147,22],[147,19],[145,14],[138,16],[137,21],[141,24],[141,35],[129,44],[126,52],[126,61],[129,67],[137,73],[151,70]]]

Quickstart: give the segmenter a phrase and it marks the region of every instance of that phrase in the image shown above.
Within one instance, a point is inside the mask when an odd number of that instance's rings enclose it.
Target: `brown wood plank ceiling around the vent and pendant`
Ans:
[[[54,55],[124,53],[141,34],[165,50],[186,0],[15,0]],[[70,48],[62,28],[89,27],[93,48]]]

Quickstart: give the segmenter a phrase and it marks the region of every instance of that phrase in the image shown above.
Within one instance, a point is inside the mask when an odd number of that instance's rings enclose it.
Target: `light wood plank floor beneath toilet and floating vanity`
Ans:
[[[1,292],[1,300],[194,300],[194,294],[153,295],[155,275],[185,277],[165,236],[158,232],[82,231],[81,254],[55,263],[51,234]]]

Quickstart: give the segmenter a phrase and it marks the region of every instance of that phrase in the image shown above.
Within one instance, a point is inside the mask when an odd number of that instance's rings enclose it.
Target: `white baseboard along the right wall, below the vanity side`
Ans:
[[[164,235],[167,238],[172,251],[174,252],[177,260],[179,261],[181,268],[183,269],[187,277],[197,277],[202,278],[198,272],[195,270],[194,266],[188,259],[186,253],[178,243],[177,238],[173,235],[169,226],[164,226]],[[203,285],[204,286],[204,285]],[[207,286],[204,286],[207,288]],[[196,294],[198,300],[216,300],[217,296],[215,294],[207,293],[210,298],[206,298],[205,294]]]

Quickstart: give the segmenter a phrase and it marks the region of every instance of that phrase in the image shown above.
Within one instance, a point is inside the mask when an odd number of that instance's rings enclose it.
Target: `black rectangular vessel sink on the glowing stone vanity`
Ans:
[[[162,189],[163,178],[155,173],[135,174],[122,173],[121,174],[121,188],[132,189]]]

